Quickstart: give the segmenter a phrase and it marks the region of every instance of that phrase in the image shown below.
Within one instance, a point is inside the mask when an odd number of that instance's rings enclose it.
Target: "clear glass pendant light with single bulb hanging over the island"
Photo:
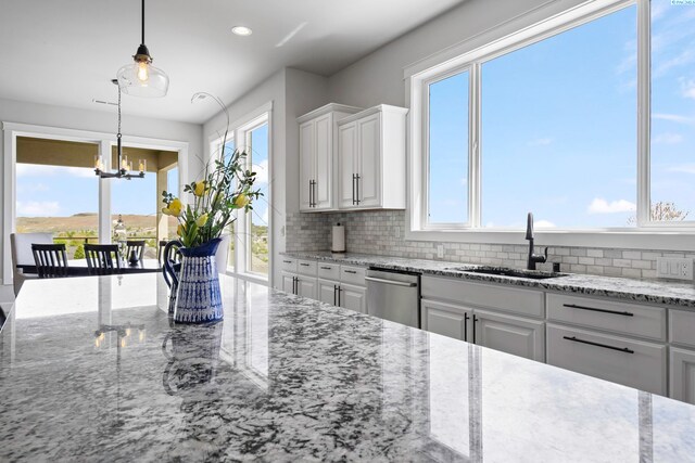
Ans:
[[[132,60],[132,64],[126,64],[116,74],[121,90],[135,97],[166,95],[169,78],[164,70],[152,66],[152,56],[144,44],[144,0],[142,0],[142,41]]]

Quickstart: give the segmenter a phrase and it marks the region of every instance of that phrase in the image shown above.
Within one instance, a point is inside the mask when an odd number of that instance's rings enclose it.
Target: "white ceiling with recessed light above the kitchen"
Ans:
[[[146,43],[170,79],[163,99],[124,95],[124,114],[201,124],[290,66],[330,76],[463,0],[148,0]],[[235,25],[253,29],[231,34]],[[140,43],[138,0],[0,0],[0,98],[98,111]]]

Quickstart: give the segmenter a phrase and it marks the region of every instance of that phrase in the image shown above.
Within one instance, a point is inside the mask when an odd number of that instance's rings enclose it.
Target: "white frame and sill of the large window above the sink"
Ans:
[[[410,105],[409,197],[406,239],[480,243],[521,243],[519,231],[481,228],[480,140],[481,66],[495,57],[545,40],[628,7],[637,9],[637,189],[635,228],[539,230],[549,245],[616,246],[635,248],[693,248],[695,221],[650,221],[650,2],[649,0],[595,0],[565,11],[535,9],[494,29],[454,46],[404,69]],[[552,9],[552,5],[548,7]],[[543,16],[545,14],[545,16]],[[429,223],[429,86],[469,72],[469,189],[467,223]],[[521,235],[519,237],[519,235]]]

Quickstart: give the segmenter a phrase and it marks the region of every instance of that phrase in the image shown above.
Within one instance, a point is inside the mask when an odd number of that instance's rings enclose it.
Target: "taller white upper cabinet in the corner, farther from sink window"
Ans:
[[[336,123],[362,111],[330,103],[298,118],[300,124],[300,210],[336,209]]]

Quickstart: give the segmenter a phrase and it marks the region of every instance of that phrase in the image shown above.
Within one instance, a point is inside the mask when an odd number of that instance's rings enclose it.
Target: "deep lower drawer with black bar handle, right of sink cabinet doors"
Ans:
[[[547,363],[666,396],[665,345],[547,324]]]

